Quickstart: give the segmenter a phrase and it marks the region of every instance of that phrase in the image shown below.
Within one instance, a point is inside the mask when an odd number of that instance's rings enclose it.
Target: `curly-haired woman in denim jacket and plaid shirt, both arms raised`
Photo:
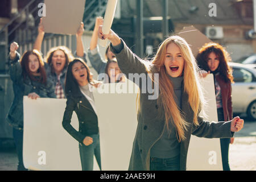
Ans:
[[[86,53],[84,52],[84,46],[82,44],[82,34],[84,32],[84,23],[80,24],[76,34],[76,52],[74,55],[80,57],[86,62]],[[44,38],[44,27],[42,24],[42,18],[38,27],[38,36],[36,38],[34,49],[41,50],[42,42]],[[57,46],[49,49],[46,55],[46,75],[49,80],[52,80],[55,84],[56,98],[65,98],[64,82],[67,72],[68,64],[74,59],[71,50],[65,46]]]

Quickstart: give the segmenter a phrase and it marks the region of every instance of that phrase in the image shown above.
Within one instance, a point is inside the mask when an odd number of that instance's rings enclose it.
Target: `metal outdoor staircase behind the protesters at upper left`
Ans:
[[[44,2],[40,0],[31,0],[23,10],[21,10],[13,19],[10,20],[1,30],[1,45],[0,55],[4,54],[7,60],[9,54],[9,47],[12,42],[19,44],[18,51],[22,55],[28,49],[32,49],[36,36],[38,35],[38,24],[40,17],[37,15],[39,8],[31,7],[32,4]],[[104,16],[106,10],[106,4],[108,0],[86,0],[85,10],[83,15],[83,22],[85,24],[85,31],[91,31],[94,28],[95,19],[97,16]],[[33,16],[34,15],[34,16]],[[19,22],[21,17],[26,17],[23,22]],[[19,22],[19,23],[15,23]],[[34,22],[34,26],[33,23]],[[13,26],[15,24],[15,26]],[[71,35],[59,35],[59,34],[45,34],[42,43],[42,53],[46,56],[46,53],[51,47],[55,46],[67,46],[73,51],[76,48],[76,38]],[[3,56],[2,56],[3,57]],[[3,61],[2,61],[3,62]],[[7,64],[0,64],[0,73],[7,72]]]

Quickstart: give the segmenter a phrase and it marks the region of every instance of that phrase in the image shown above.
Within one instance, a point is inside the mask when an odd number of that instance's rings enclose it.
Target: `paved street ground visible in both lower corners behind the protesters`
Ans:
[[[243,117],[241,117],[243,118]],[[229,164],[232,171],[256,171],[256,122],[247,121],[230,144]],[[16,170],[18,158],[14,150],[0,151],[0,171]]]

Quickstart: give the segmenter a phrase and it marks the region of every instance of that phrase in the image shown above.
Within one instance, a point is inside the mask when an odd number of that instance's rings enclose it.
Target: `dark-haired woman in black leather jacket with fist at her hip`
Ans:
[[[67,105],[63,116],[63,127],[79,142],[79,152],[82,171],[92,171],[93,155],[96,156],[101,169],[100,136],[98,133],[98,118],[94,104],[92,86],[99,82],[93,80],[88,65],[82,59],[69,63],[65,80]],[[73,111],[79,119],[79,131],[71,125]]]

